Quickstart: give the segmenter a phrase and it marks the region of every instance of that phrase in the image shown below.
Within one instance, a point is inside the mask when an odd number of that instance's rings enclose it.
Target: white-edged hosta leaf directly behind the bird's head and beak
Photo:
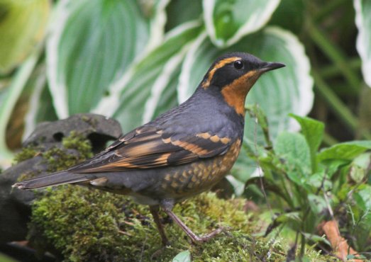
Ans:
[[[267,61],[283,62],[283,69],[268,72],[255,84],[248,95],[247,105],[258,103],[267,115],[272,139],[282,130],[298,130],[299,125],[287,118],[288,113],[306,115],[313,105],[313,79],[309,71],[309,59],[304,47],[297,38],[286,30],[266,28],[259,33],[248,35],[236,45],[218,50],[206,33],[199,35],[187,52],[179,76],[178,99],[185,101],[192,95],[214,59],[226,52],[250,52]],[[252,145],[263,144],[263,135],[256,127],[255,120],[246,115],[245,140]],[[243,161],[245,169],[240,169],[239,179],[246,181],[256,168],[256,164]],[[240,159],[239,163],[240,164]],[[239,165],[240,166],[240,165]]]

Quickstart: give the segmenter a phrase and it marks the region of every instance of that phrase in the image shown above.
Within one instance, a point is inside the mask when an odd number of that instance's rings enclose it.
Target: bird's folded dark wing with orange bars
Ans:
[[[144,125],[123,135],[104,152],[69,171],[95,173],[187,164],[223,154],[231,145],[231,139],[227,137],[205,134],[169,133]]]

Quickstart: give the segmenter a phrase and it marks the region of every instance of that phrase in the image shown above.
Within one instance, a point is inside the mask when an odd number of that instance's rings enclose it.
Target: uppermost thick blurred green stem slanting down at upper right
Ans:
[[[346,55],[313,23],[313,21],[311,21],[310,18],[306,19],[306,25],[311,39],[322,50],[323,54],[336,64],[336,67],[338,67],[340,72],[344,75],[345,80],[348,82],[350,89],[358,93],[360,91],[361,81],[357,74],[349,67]]]

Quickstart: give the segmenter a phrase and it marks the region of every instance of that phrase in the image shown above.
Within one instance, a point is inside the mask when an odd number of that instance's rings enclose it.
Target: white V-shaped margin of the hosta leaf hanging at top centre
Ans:
[[[216,38],[216,30],[214,27],[214,7],[216,0],[204,0],[202,1],[202,5],[204,8],[204,21],[206,25],[206,31],[209,34],[211,42],[214,43],[217,47],[228,47],[243,38],[244,35],[248,35],[255,31],[258,31],[262,28],[268,21],[272,14],[275,12],[276,8],[278,7],[281,0],[268,0],[267,6],[265,8],[265,12],[263,13],[255,13],[253,16],[248,18],[245,24],[243,24],[237,32],[229,38],[226,42],[223,40],[218,40]]]

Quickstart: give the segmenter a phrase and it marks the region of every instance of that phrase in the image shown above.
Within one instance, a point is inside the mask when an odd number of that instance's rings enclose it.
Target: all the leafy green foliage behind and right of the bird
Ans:
[[[350,244],[370,251],[370,13],[367,0],[0,0],[1,166],[37,123],[93,112],[128,132],[185,101],[218,55],[250,52],[287,67],[248,96],[235,193],[278,194],[279,214],[301,206],[275,217],[301,243],[321,242],[313,234],[331,210]],[[265,185],[283,177],[268,199],[254,186],[257,162]]]

